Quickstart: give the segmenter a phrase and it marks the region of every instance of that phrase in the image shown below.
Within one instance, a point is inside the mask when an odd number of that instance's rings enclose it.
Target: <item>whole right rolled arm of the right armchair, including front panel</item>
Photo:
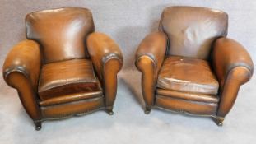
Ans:
[[[213,46],[212,66],[221,86],[217,115],[225,117],[235,103],[240,86],[252,77],[254,64],[241,44],[220,38]]]

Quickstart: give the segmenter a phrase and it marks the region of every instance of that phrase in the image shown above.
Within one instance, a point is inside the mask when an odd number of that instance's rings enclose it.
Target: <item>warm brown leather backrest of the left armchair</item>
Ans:
[[[37,41],[44,63],[89,58],[86,36],[95,30],[89,9],[67,7],[26,16],[26,37]]]

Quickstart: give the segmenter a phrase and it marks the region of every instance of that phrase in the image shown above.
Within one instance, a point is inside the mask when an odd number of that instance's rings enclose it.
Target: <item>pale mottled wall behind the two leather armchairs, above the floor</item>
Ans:
[[[140,41],[157,30],[164,7],[187,5],[212,7],[229,14],[229,37],[238,40],[256,63],[256,1],[207,0],[0,0],[0,64],[9,49],[25,37],[26,13],[56,7],[88,7],[93,12],[97,31],[117,41],[124,55],[124,68],[133,67]]]

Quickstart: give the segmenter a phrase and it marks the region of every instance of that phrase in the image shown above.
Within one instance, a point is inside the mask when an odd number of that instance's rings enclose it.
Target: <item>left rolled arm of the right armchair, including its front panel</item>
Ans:
[[[147,35],[136,53],[136,67],[142,72],[142,95],[147,107],[154,103],[156,79],[165,59],[167,37],[163,32]]]

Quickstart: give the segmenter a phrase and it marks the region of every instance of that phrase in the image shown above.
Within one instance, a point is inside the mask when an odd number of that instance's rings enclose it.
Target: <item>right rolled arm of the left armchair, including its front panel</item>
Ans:
[[[95,71],[105,88],[105,105],[111,109],[117,92],[117,73],[123,66],[122,53],[113,39],[96,32],[88,36],[87,49]]]

